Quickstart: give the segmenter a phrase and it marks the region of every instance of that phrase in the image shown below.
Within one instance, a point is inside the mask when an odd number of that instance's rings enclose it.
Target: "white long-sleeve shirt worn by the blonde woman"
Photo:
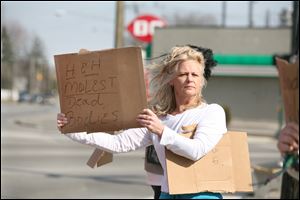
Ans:
[[[133,151],[154,144],[164,169],[161,190],[168,193],[165,147],[178,155],[196,161],[213,149],[227,132],[227,128],[224,110],[218,104],[202,104],[177,115],[166,115],[161,118],[161,121],[165,125],[161,138],[147,128],[128,129],[118,135],[80,132],[69,133],[66,136],[112,153]],[[192,139],[179,135],[183,131],[182,126],[192,124],[198,125]]]

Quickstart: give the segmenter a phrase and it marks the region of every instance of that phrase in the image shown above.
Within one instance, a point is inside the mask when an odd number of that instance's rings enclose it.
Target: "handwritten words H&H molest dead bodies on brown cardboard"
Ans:
[[[65,128],[92,131],[101,126],[105,130],[106,124],[119,119],[117,70],[105,69],[100,56],[80,57],[79,62],[64,60],[61,67],[62,111],[68,118]]]

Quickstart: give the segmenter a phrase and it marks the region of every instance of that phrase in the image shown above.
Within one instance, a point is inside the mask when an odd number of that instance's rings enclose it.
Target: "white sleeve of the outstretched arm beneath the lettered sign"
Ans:
[[[67,137],[81,144],[87,144],[110,153],[122,153],[146,147],[152,143],[150,133],[146,128],[125,130],[117,135],[97,132],[67,133]]]

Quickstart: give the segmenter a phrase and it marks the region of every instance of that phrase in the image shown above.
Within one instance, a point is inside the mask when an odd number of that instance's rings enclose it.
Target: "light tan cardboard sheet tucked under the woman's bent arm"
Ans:
[[[182,134],[192,137],[193,133]],[[166,149],[170,194],[252,192],[247,134],[227,132],[216,147],[198,161]]]

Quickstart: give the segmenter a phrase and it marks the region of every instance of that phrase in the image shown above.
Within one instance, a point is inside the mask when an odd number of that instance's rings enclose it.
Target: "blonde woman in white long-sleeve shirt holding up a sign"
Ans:
[[[202,97],[210,68],[215,65],[210,49],[191,45],[174,47],[150,69],[152,109],[144,109],[137,116],[143,128],[128,129],[118,135],[81,132],[66,136],[113,153],[153,144],[164,169],[160,198],[222,198],[221,194],[212,192],[170,195],[165,161],[165,148],[188,159],[199,160],[213,149],[227,131],[223,108],[217,104],[207,104]],[[59,128],[67,122],[64,114],[58,114]],[[198,124],[193,138],[179,135],[183,131],[181,127],[190,124]]]

